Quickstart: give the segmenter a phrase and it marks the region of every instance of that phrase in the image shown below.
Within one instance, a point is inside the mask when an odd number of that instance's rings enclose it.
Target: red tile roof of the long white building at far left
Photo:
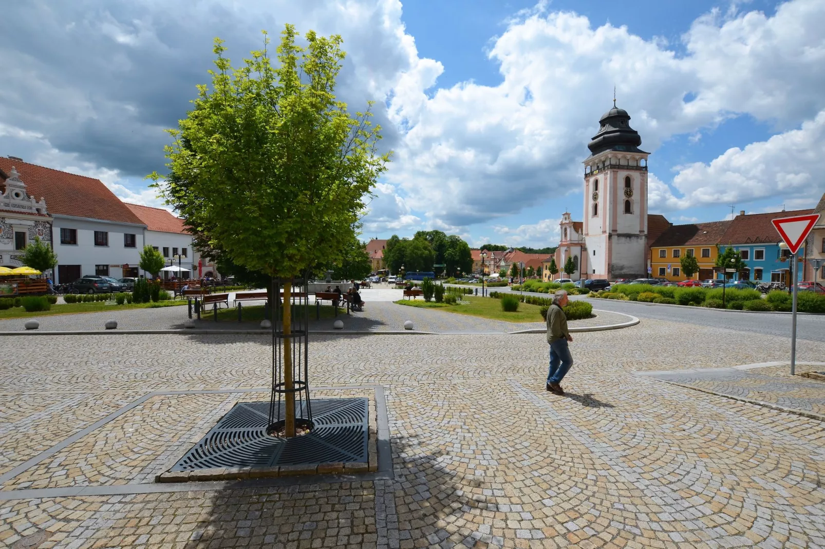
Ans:
[[[0,157],[0,171],[5,172],[0,173],[0,187],[5,188],[2,182],[12,167],[20,173],[30,195],[45,198],[51,214],[144,224],[99,179]]]

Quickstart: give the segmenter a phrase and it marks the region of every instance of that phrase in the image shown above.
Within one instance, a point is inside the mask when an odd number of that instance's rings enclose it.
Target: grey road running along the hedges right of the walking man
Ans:
[[[510,292],[509,288],[493,288],[497,292]],[[479,284],[479,294],[481,293]],[[512,292],[518,293],[518,292]],[[535,294],[533,294],[535,295]],[[609,299],[585,299],[593,308],[603,311],[624,312],[639,318],[685,322],[699,326],[750,331],[768,336],[790,338],[790,313],[720,311],[717,309],[676,307],[658,303],[611,301]],[[800,314],[796,321],[796,336],[802,340],[825,341],[825,315]]]

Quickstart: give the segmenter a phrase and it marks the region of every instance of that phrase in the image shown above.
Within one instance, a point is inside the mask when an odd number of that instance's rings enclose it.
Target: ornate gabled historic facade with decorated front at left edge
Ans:
[[[35,237],[51,244],[51,232],[45,199],[29,194],[14,167],[0,169],[0,265],[20,267],[23,248]]]

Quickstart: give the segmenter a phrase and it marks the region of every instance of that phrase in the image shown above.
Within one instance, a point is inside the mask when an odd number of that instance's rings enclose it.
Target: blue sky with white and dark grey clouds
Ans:
[[[4,7],[0,155],[163,206],[165,129],[209,82],[299,32],[340,34],[338,96],[375,101],[393,162],[362,237],[440,229],[554,246],[582,218],[598,120],[627,110],[672,223],[811,208],[825,192],[825,2],[30,0]]]

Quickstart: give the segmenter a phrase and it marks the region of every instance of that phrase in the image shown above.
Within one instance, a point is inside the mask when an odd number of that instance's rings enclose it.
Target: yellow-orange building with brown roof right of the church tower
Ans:
[[[719,255],[722,235],[730,221],[672,225],[650,246],[650,277],[674,282],[714,278],[714,264]],[[681,258],[694,256],[699,270],[691,277],[681,272]]]

